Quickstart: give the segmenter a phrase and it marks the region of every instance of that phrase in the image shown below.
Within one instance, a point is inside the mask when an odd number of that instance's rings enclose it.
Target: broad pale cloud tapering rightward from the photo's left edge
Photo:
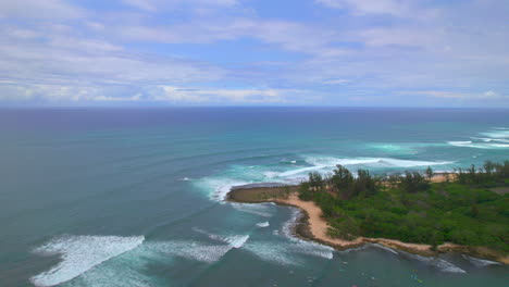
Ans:
[[[21,83],[66,85],[71,82],[92,84],[158,84],[216,80],[221,68],[164,57],[129,53],[122,46],[69,34],[46,34],[37,29],[9,34],[0,30],[0,77]],[[34,39],[35,38],[35,39]]]

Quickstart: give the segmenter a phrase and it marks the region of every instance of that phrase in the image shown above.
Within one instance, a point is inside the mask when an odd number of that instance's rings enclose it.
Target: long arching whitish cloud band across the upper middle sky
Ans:
[[[216,22],[188,22],[172,26],[119,27],[119,35],[131,40],[166,43],[208,43],[220,40],[254,38],[288,50],[320,57],[347,54],[347,49],[330,47],[338,39],[332,29],[288,21],[225,18]]]

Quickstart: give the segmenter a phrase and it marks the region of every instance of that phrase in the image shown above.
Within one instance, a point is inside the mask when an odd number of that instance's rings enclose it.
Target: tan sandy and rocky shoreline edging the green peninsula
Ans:
[[[435,175],[432,180],[434,183],[445,182],[450,175],[454,176],[454,174],[440,173]],[[294,234],[305,240],[316,241],[337,250],[358,248],[365,244],[378,244],[392,249],[399,249],[425,257],[433,257],[438,253],[454,251],[475,258],[509,264],[509,257],[505,257],[499,252],[485,247],[468,247],[446,242],[437,246],[435,250],[432,250],[432,246],[430,245],[402,242],[387,238],[358,237],[355,240],[332,238],[327,235],[328,224],[324,219],[322,219],[320,207],[314,204],[312,201],[300,200],[297,194],[297,185],[282,186],[278,184],[254,184],[234,187],[227,194],[226,200],[239,203],[273,202],[278,205],[298,208],[302,211],[303,216],[301,216],[299,222],[294,226]]]

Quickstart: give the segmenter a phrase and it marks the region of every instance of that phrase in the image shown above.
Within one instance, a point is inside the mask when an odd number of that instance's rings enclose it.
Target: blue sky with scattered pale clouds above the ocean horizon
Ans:
[[[0,107],[509,108],[509,0],[0,0]]]

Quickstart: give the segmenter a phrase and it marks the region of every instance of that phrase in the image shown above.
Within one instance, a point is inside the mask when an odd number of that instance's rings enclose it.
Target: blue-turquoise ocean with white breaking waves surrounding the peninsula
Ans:
[[[507,286],[502,265],[291,237],[298,211],[223,201],[344,164],[509,159],[509,111],[0,111],[0,286]]]

